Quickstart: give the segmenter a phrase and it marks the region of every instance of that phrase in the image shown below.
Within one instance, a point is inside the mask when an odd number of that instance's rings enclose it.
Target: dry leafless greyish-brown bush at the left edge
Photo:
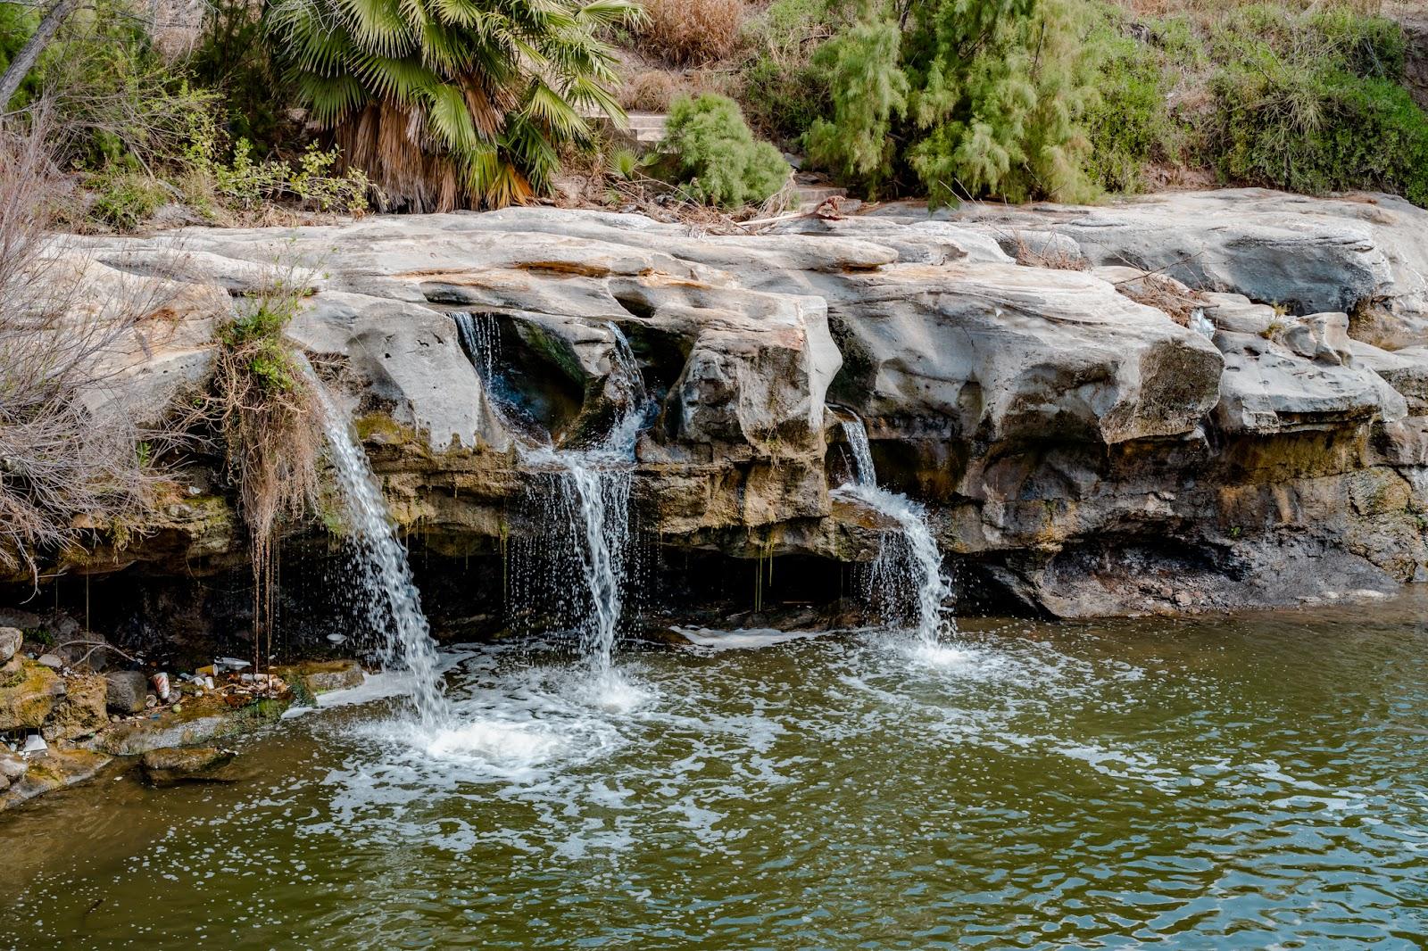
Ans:
[[[86,533],[136,527],[166,441],[103,398],[161,281],[104,296],[91,263],[46,236],[69,188],[43,110],[0,126],[0,568],[36,578]]]

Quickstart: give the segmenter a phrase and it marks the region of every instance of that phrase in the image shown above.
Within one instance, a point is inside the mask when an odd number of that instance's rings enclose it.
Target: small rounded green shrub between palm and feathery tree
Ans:
[[[725,96],[674,100],[661,150],[671,180],[695,201],[758,204],[788,181],[788,163],[767,141],[754,141],[738,104]]]

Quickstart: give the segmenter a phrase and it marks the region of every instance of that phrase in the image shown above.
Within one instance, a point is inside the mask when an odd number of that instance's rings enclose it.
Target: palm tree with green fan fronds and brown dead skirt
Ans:
[[[313,117],[390,207],[547,193],[587,117],[624,119],[600,40],[634,0],[273,0],[267,27]]]

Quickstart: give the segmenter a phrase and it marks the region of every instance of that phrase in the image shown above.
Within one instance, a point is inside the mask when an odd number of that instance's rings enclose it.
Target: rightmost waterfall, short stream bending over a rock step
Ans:
[[[924,645],[935,645],[942,628],[942,604],[952,597],[952,587],[942,574],[942,553],[927,524],[927,510],[901,493],[878,487],[863,420],[844,420],[843,431],[853,453],[853,481],[835,491],[883,513],[901,530],[895,540],[883,540],[873,565],[874,584],[892,593],[911,584],[917,637]]]

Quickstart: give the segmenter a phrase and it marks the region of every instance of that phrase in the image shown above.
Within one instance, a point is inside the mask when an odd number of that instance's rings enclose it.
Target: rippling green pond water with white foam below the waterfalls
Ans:
[[[1421,948],[1425,618],[964,621],[600,684],[471,647],[450,728],[334,705],[236,785],[0,815],[0,947]]]

